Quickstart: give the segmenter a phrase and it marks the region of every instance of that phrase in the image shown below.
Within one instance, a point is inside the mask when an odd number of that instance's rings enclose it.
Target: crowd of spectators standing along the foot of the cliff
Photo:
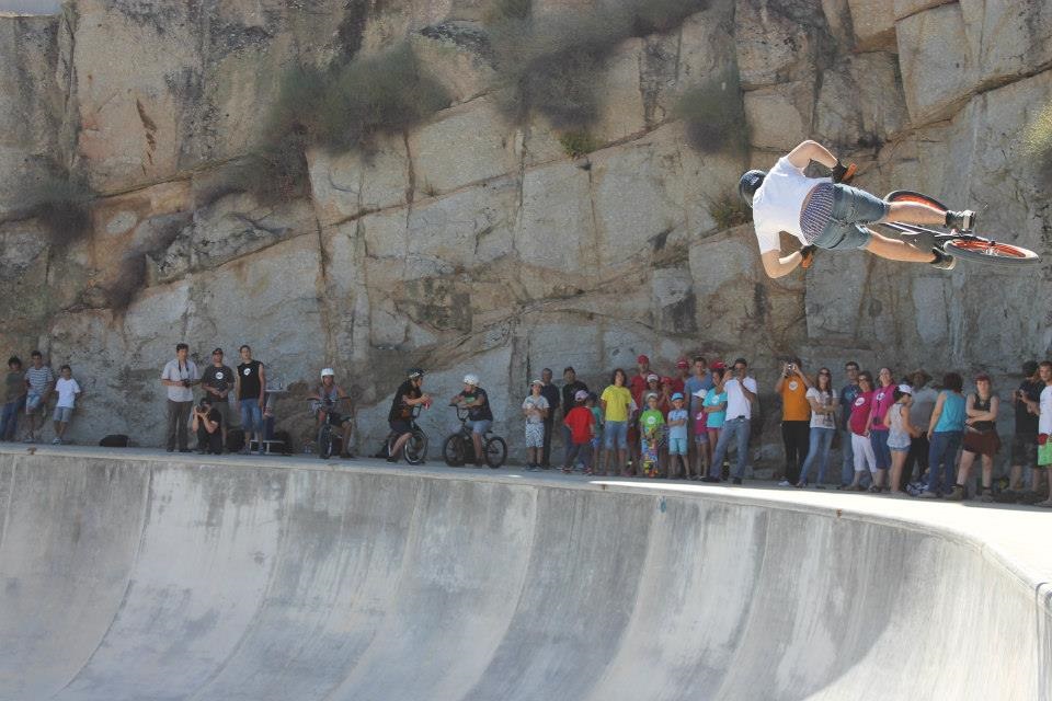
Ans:
[[[225,364],[221,348],[211,353],[201,371],[186,344],[161,371],[167,393],[165,447],[218,453],[229,447],[228,429],[240,417],[240,450],[255,446],[263,452],[273,433],[273,397],[267,372],[248,345],[239,348],[237,368]],[[414,370],[411,381],[422,381]],[[828,367],[809,374],[801,358],[788,358],[771,387],[780,405],[784,464],[776,472],[780,486],[866,491],[893,496],[983,502],[1020,502],[1052,506],[1048,471],[1052,464],[1052,361],[1030,361],[1024,380],[1009,395],[995,392],[988,375],[980,372],[965,387],[964,378],[947,372],[933,383],[924,370],[895,372],[880,367],[876,377],[857,363],[844,366],[839,389]],[[467,380],[471,379],[471,382]],[[490,401],[476,376],[454,398],[473,412],[472,438],[480,440],[493,423]],[[194,388],[204,395],[194,403]],[[23,440],[38,443],[49,400],[53,443],[64,443],[77,402],[83,392],[68,365],[56,377],[34,350],[23,368],[8,360],[5,394],[0,413],[0,440],[16,440],[24,418]],[[398,399],[401,390],[396,393]],[[565,472],[588,475],[648,476],[719,483],[746,479],[750,434],[758,413],[761,390],[745,358],[733,363],[702,356],[681,358],[673,375],[663,376],[640,355],[631,376],[615,369],[602,391],[593,391],[572,367],[562,382],[545,368],[530,382],[522,404],[526,466],[551,469],[553,437],[561,435]],[[330,403],[347,399],[331,369],[322,371],[312,395]],[[995,484],[995,457],[1002,450],[997,417],[1002,400],[1015,412],[1007,474]],[[420,400],[424,401],[424,400]],[[430,405],[430,401],[427,402]],[[324,421],[324,415],[320,415]],[[478,443],[477,440],[477,443]],[[841,470],[830,463],[839,447]],[[397,451],[392,451],[392,455]],[[476,446],[476,456],[482,451]],[[977,481],[973,468],[979,462]],[[832,482],[831,482],[832,478]]]

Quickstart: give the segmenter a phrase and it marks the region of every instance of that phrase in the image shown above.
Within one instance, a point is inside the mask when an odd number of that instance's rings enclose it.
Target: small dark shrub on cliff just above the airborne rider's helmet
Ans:
[[[748,126],[737,73],[709,78],[679,96],[673,116],[683,119],[687,141],[702,153],[742,154],[748,148]]]

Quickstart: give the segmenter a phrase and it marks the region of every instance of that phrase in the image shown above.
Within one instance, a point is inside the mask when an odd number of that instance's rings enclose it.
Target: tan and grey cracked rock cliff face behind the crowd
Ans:
[[[515,448],[518,404],[545,366],[599,387],[641,352],[665,368],[741,354],[769,386],[789,353],[835,370],[850,357],[1004,375],[1048,350],[1048,263],[942,274],[827,254],[771,281],[750,227],[720,230],[710,214],[744,168],[814,137],[861,164],[862,186],[980,209],[985,230],[1049,256],[1049,199],[1019,156],[1052,97],[1047,3],[712,0],[616,47],[597,148],[576,159],[545,119],[515,126],[498,108],[492,56],[472,38],[490,4],[77,0],[0,18],[0,346],[38,345],[76,368],[75,437],[158,443],[157,378],[183,340],[203,361],[215,345],[256,348],[291,390],[281,410],[296,433],[308,433],[307,386],[335,367],[369,448],[410,365],[431,369],[442,399],[479,372]],[[225,187],[290,62],[407,37],[449,108],[368,156],[309,151],[301,198]],[[750,151],[701,154],[672,106],[729,67]],[[72,241],[23,207],[25,180],[56,168],[98,195]],[[434,443],[449,413],[425,418]]]

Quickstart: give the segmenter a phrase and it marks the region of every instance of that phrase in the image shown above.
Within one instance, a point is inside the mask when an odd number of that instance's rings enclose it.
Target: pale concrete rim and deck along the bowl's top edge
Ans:
[[[156,448],[99,448],[93,446],[0,445],[0,455],[26,457],[118,459],[156,463],[160,467],[196,469],[270,469],[311,472],[344,472],[431,480],[471,481],[534,489],[603,492],[655,499],[714,499],[724,504],[776,508],[823,518],[872,522],[950,539],[976,551],[1013,578],[1034,591],[1037,602],[1052,612],[1052,551],[1042,545],[1052,532],[1052,512],[1041,507],[892,499],[836,490],[823,492],[775,487],[709,485],[690,482],[652,481],[640,478],[588,478],[549,472],[525,472],[518,468],[448,468],[425,464],[390,466],[374,458],[322,461],[317,456],[201,456],[169,453]],[[207,458],[207,459],[202,459]],[[434,461],[432,461],[434,462]]]

